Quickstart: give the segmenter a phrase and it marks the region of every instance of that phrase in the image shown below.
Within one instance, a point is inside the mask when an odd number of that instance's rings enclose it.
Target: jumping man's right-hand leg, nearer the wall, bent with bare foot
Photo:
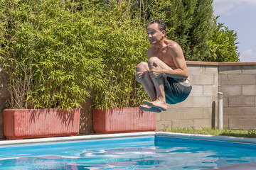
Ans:
[[[170,69],[170,67],[159,60],[158,57],[151,57],[149,59],[149,69],[154,69],[156,67],[161,67],[161,69]],[[152,81],[154,83],[154,87],[156,89],[156,100],[155,101],[144,101],[147,106],[149,107],[155,107],[159,108],[161,111],[166,111],[167,110],[167,105],[166,105],[166,96],[165,96],[165,91],[164,91],[164,84],[165,84],[165,77],[158,77],[158,78],[152,78]]]

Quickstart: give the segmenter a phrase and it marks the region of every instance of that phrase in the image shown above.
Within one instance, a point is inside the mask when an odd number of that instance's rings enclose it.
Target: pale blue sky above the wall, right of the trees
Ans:
[[[214,16],[238,33],[240,62],[256,62],[256,0],[213,0]]]

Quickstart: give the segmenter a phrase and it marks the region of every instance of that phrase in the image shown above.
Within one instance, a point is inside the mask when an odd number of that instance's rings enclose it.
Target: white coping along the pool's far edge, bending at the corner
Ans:
[[[72,137],[46,137],[27,140],[4,140],[0,141],[0,146],[4,145],[24,145],[46,142],[68,142],[78,140],[100,140],[100,139],[112,139],[119,137],[142,137],[142,136],[161,136],[161,137],[178,137],[184,139],[194,140],[211,140],[220,142],[241,142],[247,144],[256,144],[256,138],[248,137],[229,137],[229,136],[215,136],[215,135],[197,135],[186,133],[174,133],[174,132],[132,132],[132,133],[116,133],[110,135],[82,135]]]

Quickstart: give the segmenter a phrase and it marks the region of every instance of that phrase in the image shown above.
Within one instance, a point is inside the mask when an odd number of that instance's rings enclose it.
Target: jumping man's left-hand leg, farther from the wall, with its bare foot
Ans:
[[[146,90],[146,93],[149,95],[149,97],[151,98],[151,101],[155,101],[156,100],[156,91],[154,88],[154,83],[149,75],[149,66],[148,63],[146,62],[141,62],[137,65],[137,67],[135,67],[136,69],[136,79],[137,81],[139,81],[142,86],[144,87],[144,89]],[[161,110],[159,110],[159,108],[156,107],[150,107],[150,106],[139,106],[139,108],[141,108],[143,111],[153,111],[156,113],[161,112]]]

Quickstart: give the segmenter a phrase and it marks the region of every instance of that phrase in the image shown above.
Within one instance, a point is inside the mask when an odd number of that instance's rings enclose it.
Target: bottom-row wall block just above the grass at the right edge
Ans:
[[[256,128],[256,118],[230,118],[229,128],[238,130],[254,130]]]

